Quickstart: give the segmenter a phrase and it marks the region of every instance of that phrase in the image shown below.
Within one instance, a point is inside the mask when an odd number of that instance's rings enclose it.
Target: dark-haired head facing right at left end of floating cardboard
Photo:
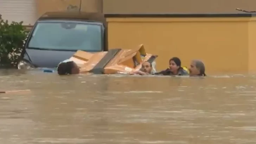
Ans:
[[[59,75],[79,74],[80,73],[79,67],[73,61],[60,63],[58,65],[57,71],[58,71]]]

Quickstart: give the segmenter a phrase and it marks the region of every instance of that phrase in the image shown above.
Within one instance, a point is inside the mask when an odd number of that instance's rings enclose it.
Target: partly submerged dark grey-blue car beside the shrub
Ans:
[[[34,24],[18,69],[54,68],[78,50],[108,51],[107,25],[101,13],[47,12]]]

